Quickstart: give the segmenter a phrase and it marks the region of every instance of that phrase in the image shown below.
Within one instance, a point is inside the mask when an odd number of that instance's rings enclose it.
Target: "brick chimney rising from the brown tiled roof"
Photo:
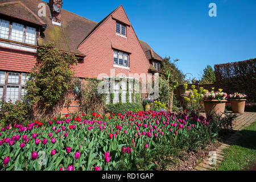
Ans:
[[[49,9],[52,14],[52,21],[61,23],[61,8],[63,5],[62,0],[49,0]]]

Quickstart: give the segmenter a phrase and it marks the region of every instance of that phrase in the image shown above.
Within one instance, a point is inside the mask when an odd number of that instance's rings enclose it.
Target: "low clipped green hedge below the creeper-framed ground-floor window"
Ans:
[[[138,112],[143,110],[141,103],[117,103],[106,105],[106,113],[120,113],[125,114],[126,111]]]

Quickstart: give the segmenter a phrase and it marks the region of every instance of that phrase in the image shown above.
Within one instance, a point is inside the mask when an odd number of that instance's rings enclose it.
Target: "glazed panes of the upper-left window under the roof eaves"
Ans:
[[[36,28],[0,19],[0,38],[35,45]]]

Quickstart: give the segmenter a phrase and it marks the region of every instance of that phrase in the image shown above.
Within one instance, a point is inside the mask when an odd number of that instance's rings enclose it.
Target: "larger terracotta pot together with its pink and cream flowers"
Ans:
[[[207,115],[210,113],[221,114],[225,112],[225,105],[228,102],[228,94],[222,92],[222,89],[218,89],[214,92],[214,88],[211,92],[207,92],[204,95],[204,110]]]

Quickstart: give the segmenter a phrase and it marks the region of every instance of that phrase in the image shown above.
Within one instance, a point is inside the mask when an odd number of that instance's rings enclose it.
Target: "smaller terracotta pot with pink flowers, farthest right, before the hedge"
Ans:
[[[243,114],[245,112],[246,94],[234,93],[229,94],[229,102],[233,113]]]

